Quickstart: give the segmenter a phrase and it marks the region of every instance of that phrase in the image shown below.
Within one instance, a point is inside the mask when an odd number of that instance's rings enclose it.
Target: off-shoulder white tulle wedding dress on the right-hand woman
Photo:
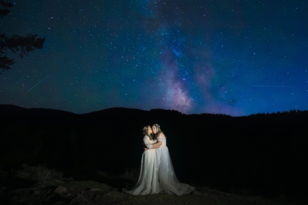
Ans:
[[[180,183],[177,180],[169,155],[166,138],[160,135],[157,141],[161,141],[162,143],[160,148],[155,149],[158,168],[158,182],[160,183],[162,192],[180,196],[182,194],[188,194],[191,191],[195,191],[195,187]]]

